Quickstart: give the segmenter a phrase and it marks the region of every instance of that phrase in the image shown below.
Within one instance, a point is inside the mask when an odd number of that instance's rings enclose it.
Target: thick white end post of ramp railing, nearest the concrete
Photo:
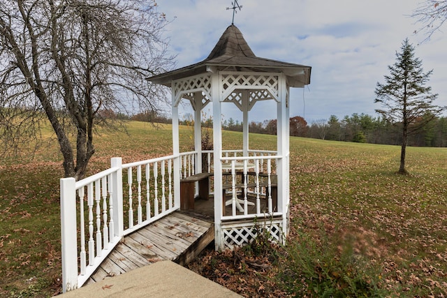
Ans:
[[[78,236],[76,227],[76,180],[60,179],[62,291],[78,288]]]

